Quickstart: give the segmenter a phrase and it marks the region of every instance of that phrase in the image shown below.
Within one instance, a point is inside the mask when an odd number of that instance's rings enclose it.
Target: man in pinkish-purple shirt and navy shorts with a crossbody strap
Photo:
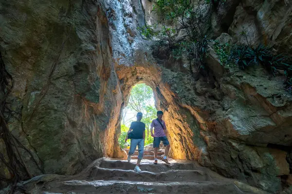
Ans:
[[[163,162],[170,164],[167,161],[167,154],[169,151],[169,142],[167,140],[167,137],[165,135],[166,131],[166,125],[164,120],[162,120],[163,112],[157,111],[157,118],[154,119],[151,123],[151,135],[154,137],[153,140],[153,148],[154,148],[154,164],[157,164],[157,151],[159,149],[160,142],[162,141],[165,147],[164,151],[164,157],[162,159]],[[154,134],[153,134],[153,128],[154,128]]]

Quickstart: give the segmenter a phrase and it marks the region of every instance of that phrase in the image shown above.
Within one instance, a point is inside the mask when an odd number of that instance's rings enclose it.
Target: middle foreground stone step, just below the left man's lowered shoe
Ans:
[[[124,180],[124,181],[207,181],[210,178],[201,170],[168,170],[166,172],[153,173],[142,171],[136,173],[131,170],[109,169],[93,167],[88,180]]]

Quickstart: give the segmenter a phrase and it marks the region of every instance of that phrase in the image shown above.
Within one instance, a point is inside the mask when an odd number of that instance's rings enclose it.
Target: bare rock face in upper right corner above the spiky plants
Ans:
[[[242,0],[228,32],[239,44],[276,44],[290,48],[291,12],[292,4],[284,0]]]

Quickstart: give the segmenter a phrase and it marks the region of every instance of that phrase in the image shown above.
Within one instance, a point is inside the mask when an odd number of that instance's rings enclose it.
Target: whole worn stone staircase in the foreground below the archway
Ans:
[[[136,160],[102,158],[75,176],[41,175],[18,183],[15,194],[267,194],[196,162],[169,161],[142,160],[136,173]]]

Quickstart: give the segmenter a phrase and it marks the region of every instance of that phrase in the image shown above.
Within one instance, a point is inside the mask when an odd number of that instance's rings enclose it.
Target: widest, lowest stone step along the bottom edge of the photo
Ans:
[[[139,182],[116,180],[70,180],[60,182],[50,191],[66,194],[155,193],[155,194],[244,194],[233,182]]]

